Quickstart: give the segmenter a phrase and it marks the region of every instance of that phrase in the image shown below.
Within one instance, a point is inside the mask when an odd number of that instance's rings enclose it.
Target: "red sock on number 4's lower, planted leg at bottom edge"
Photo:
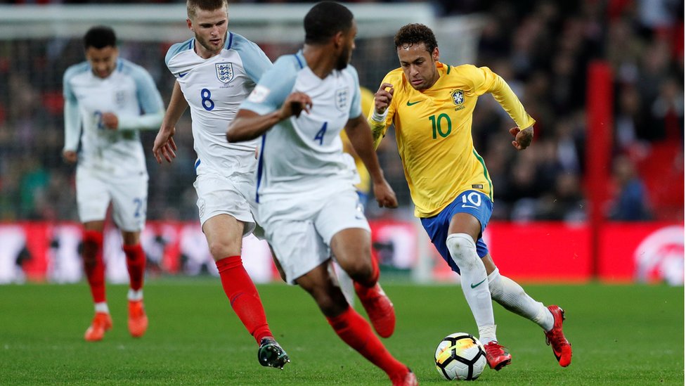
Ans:
[[[326,320],[343,342],[356,349],[368,361],[380,367],[389,377],[408,371],[405,365],[388,352],[384,344],[372,332],[369,323],[352,307],[348,307],[343,314],[327,317]]]

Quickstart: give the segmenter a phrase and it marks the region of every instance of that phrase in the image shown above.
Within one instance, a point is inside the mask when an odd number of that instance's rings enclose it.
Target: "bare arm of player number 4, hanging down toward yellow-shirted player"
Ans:
[[[348,120],[345,132],[352,147],[360,157],[373,181],[374,196],[380,207],[398,207],[396,193],[384,178],[379,160],[374,151],[369,124],[363,115]]]

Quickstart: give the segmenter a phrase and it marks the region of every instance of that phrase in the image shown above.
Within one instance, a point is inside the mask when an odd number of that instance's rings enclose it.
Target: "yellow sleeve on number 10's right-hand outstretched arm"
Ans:
[[[503,107],[503,110],[514,120],[519,129],[524,130],[536,122],[526,113],[522,102],[519,101],[517,95],[514,94],[514,91],[510,89],[510,86],[500,75],[491,71],[488,67],[474,67],[472,74],[474,92],[477,95],[491,93],[493,98]]]

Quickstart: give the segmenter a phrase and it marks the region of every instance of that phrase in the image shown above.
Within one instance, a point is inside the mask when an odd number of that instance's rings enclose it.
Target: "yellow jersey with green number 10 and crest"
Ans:
[[[402,68],[389,72],[384,83],[394,94],[385,122],[368,122],[378,146],[394,124],[396,142],[415,216],[433,217],[467,190],[481,191],[493,200],[493,186],[484,159],[474,150],[472,113],[477,98],[493,94],[520,129],[535,120],[503,78],[488,67],[436,62],[439,79],[429,89],[415,90]]]

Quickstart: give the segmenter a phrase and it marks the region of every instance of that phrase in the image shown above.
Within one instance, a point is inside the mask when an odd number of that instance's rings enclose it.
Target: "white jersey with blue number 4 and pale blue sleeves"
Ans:
[[[348,65],[321,79],[307,66],[302,52],[282,56],[241,108],[268,114],[278,110],[293,91],[307,94],[312,108],[283,120],[262,136],[258,202],[348,189],[358,181],[354,161],[343,152],[339,136],[348,120],[362,113],[355,68]]]

